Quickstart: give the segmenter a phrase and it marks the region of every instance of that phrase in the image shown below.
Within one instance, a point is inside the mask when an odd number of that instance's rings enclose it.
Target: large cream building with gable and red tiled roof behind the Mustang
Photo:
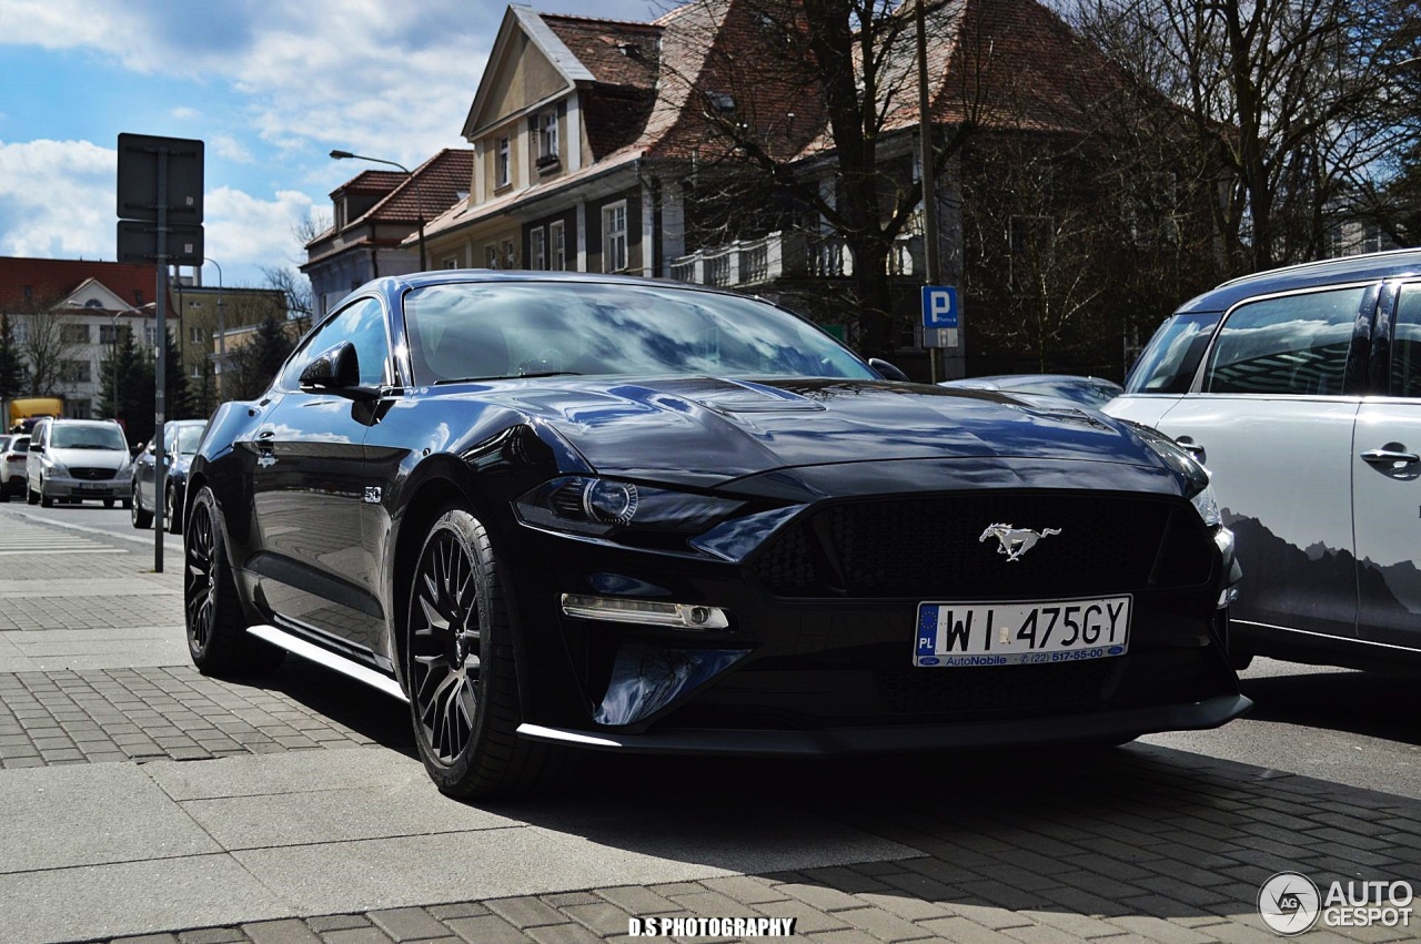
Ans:
[[[1070,138],[1090,125],[1091,104],[1121,84],[1100,51],[1037,0],[925,6],[939,139],[959,128],[973,141]],[[691,0],[651,23],[509,6],[463,124],[473,149],[468,194],[426,227],[431,267],[630,273],[740,288],[853,339],[853,287],[864,273],[855,275],[855,247],[824,212],[843,200],[844,168],[804,16],[793,0]],[[881,43],[872,94],[882,118],[868,186],[902,227],[881,265],[897,318],[891,342],[911,361],[922,358],[914,322],[925,278],[911,17]],[[973,180],[963,176],[969,168]],[[999,170],[959,155],[939,180],[944,281],[971,284],[969,267],[988,258],[969,244],[971,223],[982,220],[971,219],[962,194],[988,192],[978,185]],[[725,186],[752,172],[764,177],[762,190]],[[1019,251],[1017,220],[990,226],[1003,230],[1003,251]],[[1020,282],[990,270],[976,277]]]

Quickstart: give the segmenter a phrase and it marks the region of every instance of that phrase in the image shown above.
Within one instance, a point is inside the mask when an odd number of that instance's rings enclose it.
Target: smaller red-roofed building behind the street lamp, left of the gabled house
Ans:
[[[379,275],[418,271],[422,223],[463,199],[473,152],[445,149],[415,168],[362,170],[331,192],[331,226],[306,244],[301,271],[311,280],[317,314]]]

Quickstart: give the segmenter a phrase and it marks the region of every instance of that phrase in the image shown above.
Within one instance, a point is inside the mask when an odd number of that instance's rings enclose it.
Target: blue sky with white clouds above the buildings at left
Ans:
[[[664,0],[530,0],[651,20]],[[466,148],[496,0],[0,0],[0,256],[115,258],[121,132],[206,142],[226,285],[296,267],[294,227],[365,169]],[[185,274],[188,270],[183,270]],[[216,285],[206,265],[203,284]]]

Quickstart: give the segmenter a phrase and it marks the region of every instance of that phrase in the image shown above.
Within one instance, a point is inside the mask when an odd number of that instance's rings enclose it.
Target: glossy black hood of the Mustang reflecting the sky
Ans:
[[[597,471],[706,487],[851,461],[1164,467],[1125,424],[1052,397],[874,380],[598,380],[523,382],[480,399],[551,426]]]

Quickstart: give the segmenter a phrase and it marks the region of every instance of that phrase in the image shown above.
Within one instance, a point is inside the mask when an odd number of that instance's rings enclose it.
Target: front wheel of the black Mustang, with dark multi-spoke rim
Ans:
[[[415,742],[435,785],[459,799],[493,799],[550,778],[563,751],[517,735],[503,576],[487,532],[468,511],[450,508],[429,528],[405,632]]]

